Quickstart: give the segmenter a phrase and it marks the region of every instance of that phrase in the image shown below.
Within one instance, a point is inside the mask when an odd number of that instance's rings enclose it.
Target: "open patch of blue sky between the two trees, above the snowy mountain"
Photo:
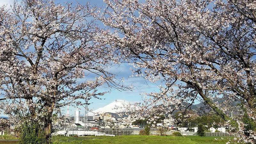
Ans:
[[[128,64],[121,64],[118,68],[111,68],[110,71],[113,73],[118,73],[117,78],[124,77],[124,85],[132,85],[134,86],[133,91],[118,91],[116,89],[111,88],[99,88],[98,91],[108,91],[111,89],[110,93],[101,96],[102,99],[105,100],[98,100],[98,99],[91,99],[89,103],[89,109],[97,109],[103,107],[115,100],[125,100],[127,102],[142,102],[141,93],[143,92],[158,92],[159,89],[157,84],[151,83],[145,80],[142,77],[130,77],[132,75],[132,71],[130,70],[130,65]],[[83,107],[81,107],[83,109]]]

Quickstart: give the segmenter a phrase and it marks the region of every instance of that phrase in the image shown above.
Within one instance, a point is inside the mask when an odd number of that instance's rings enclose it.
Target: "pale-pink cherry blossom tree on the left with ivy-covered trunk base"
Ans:
[[[94,46],[95,10],[52,0],[1,7],[0,108],[10,119],[39,121],[48,139],[52,114],[59,115],[61,107],[108,92],[97,92],[99,86],[125,89],[122,79],[108,72],[116,64],[112,53]]]

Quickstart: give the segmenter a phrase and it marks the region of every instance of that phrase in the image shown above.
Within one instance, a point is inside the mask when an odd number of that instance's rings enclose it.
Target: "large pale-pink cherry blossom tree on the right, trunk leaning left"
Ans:
[[[95,39],[130,62],[132,76],[162,83],[160,92],[144,94],[141,112],[172,114],[183,102],[204,102],[242,131],[237,141],[255,142],[254,0],[104,2],[95,17],[106,28]]]

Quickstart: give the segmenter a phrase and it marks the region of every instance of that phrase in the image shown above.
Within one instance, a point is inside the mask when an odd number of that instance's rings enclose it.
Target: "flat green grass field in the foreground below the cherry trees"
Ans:
[[[218,138],[219,140],[215,140]],[[53,137],[53,144],[225,144],[227,137],[199,136],[86,136],[86,137]]]

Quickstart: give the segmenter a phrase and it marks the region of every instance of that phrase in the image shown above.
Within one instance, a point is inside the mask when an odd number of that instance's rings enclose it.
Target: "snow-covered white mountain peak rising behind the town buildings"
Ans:
[[[100,113],[104,113],[104,112],[110,112],[110,113],[119,113],[119,112],[123,112],[125,111],[125,106],[128,104],[128,101],[125,100],[116,100],[114,102],[111,102],[110,104],[102,107],[102,108],[98,108],[96,110],[93,110],[92,112],[88,113],[88,116],[95,116],[98,115]]]

